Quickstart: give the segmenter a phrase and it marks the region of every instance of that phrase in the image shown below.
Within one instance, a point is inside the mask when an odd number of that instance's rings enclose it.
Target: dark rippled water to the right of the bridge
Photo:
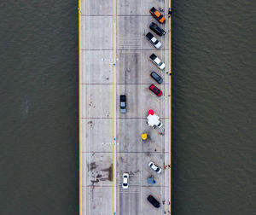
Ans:
[[[256,2],[173,8],[173,212],[256,214]]]

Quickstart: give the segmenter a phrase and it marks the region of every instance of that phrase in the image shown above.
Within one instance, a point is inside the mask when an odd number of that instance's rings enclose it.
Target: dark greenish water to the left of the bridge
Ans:
[[[78,1],[0,2],[0,214],[78,214]]]

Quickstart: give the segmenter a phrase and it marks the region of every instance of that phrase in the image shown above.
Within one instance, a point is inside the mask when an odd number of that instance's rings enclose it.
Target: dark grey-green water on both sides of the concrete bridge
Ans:
[[[0,2],[0,214],[78,214],[78,1]],[[256,4],[173,1],[173,214],[256,214]]]

